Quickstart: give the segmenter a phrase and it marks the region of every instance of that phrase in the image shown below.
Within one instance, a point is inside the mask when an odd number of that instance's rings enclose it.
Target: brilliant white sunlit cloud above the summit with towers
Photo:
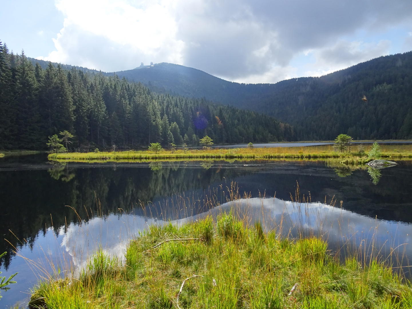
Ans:
[[[119,71],[140,61],[182,63],[183,42],[162,1],[131,5],[126,1],[59,0],[66,16],[46,60]]]

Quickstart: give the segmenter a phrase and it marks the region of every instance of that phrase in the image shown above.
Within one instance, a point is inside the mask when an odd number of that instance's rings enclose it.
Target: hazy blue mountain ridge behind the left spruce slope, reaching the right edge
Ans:
[[[142,65],[116,75],[157,93],[265,113],[292,125],[290,136],[296,140],[332,140],[340,133],[356,139],[412,138],[412,52],[276,84],[228,82],[171,63]],[[364,95],[368,101],[361,99]]]

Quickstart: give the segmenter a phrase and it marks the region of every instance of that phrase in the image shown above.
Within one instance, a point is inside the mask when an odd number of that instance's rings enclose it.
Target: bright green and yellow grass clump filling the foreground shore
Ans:
[[[131,241],[125,265],[99,252],[77,279],[40,283],[30,306],[411,308],[412,290],[391,267],[337,260],[321,239],[280,239],[223,213],[217,223],[152,226]]]

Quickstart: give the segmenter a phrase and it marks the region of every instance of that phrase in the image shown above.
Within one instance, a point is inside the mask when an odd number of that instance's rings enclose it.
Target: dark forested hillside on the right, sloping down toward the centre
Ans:
[[[254,110],[293,124],[297,140],[412,138],[412,52],[276,85]]]

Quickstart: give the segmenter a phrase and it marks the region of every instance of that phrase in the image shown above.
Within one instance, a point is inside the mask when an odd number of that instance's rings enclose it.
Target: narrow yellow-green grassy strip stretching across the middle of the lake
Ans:
[[[355,148],[353,146],[352,148]],[[383,145],[382,158],[412,158],[412,145]],[[354,150],[354,149],[353,149]],[[309,147],[267,147],[267,148],[233,148],[202,150],[164,150],[158,153],[148,150],[117,152],[69,152],[50,154],[51,160],[147,160],[147,159],[287,159],[287,158],[337,158],[349,159],[358,163],[368,162],[370,145],[365,146],[365,153],[336,152],[332,145]]]

